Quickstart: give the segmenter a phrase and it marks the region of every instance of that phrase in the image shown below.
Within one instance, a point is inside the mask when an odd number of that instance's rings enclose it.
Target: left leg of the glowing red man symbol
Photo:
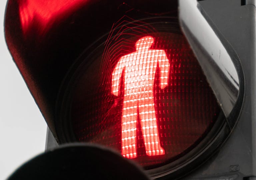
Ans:
[[[122,111],[122,155],[135,158],[137,135],[137,106],[124,99]]]

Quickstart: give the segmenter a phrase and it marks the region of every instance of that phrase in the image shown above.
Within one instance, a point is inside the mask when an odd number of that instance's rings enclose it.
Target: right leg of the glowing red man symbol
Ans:
[[[149,156],[162,155],[164,149],[161,147],[159,140],[153,93],[152,96],[148,96],[139,104],[140,125],[146,153]]]

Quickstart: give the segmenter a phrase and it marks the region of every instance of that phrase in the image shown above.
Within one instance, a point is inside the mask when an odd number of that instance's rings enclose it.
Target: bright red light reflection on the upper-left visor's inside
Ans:
[[[46,30],[56,19],[71,13],[87,0],[21,0],[19,6],[22,30],[27,32],[33,21],[38,21],[40,31]]]

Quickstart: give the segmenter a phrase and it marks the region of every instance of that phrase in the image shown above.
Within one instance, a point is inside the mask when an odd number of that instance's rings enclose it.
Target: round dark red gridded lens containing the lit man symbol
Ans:
[[[182,34],[151,33],[101,51],[91,53],[72,96],[78,141],[150,169],[184,156],[211,130],[220,108]]]

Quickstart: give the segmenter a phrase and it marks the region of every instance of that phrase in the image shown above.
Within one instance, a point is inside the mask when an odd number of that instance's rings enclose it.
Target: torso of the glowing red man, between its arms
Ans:
[[[124,68],[124,95],[141,96],[152,93],[158,60],[165,56],[164,50],[134,52],[121,57]]]

